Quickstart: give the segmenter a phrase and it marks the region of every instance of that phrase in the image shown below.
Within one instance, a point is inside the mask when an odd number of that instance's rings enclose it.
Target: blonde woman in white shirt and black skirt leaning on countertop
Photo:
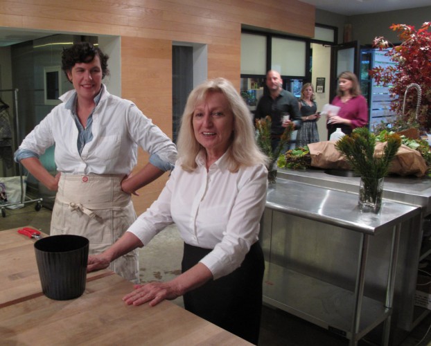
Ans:
[[[182,274],[136,285],[123,300],[151,306],[184,296],[184,307],[257,344],[264,260],[258,242],[267,192],[267,158],[252,116],[234,86],[208,80],[188,96],[178,161],[159,198],[87,271],[106,268],[175,223],[184,240]]]

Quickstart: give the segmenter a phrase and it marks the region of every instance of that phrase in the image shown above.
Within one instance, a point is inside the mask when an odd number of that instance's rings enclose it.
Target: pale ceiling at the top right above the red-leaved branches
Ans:
[[[364,15],[367,13],[405,10],[431,6],[430,0],[299,0],[310,3],[319,10],[335,12],[340,15]]]

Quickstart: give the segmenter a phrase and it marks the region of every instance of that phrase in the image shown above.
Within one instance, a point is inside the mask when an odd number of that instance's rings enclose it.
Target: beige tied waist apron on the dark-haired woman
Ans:
[[[137,218],[130,194],[121,190],[118,175],[61,174],[51,219],[51,235],[82,235],[89,253],[105,251]],[[126,280],[139,282],[137,250],[114,260],[109,268]]]

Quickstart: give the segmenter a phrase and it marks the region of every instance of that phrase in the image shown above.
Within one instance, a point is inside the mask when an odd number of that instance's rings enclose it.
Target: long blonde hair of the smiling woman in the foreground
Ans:
[[[203,102],[209,93],[225,95],[229,108],[234,115],[234,131],[231,136],[231,145],[227,149],[229,171],[237,172],[242,165],[266,164],[267,156],[256,145],[253,117],[243,98],[229,80],[214,78],[206,80],[188,95],[177,140],[178,158],[182,168],[191,172],[197,167],[195,158],[203,147],[195,138],[193,113],[197,104]]]

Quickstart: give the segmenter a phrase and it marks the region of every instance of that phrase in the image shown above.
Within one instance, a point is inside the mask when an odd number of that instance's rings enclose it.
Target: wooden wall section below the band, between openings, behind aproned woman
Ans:
[[[123,97],[132,100],[141,111],[172,138],[172,44],[167,40],[123,37],[121,39],[121,89]],[[148,163],[148,154],[139,149],[140,170]],[[157,181],[139,190],[133,197],[138,214],[157,199],[168,179],[164,174]]]

